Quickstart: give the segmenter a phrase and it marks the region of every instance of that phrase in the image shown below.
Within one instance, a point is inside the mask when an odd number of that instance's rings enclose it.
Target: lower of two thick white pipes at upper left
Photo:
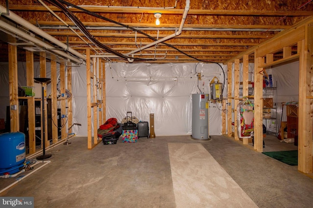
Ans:
[[[2,20],[0,20],[0,28],[4,28],[5,30],[10,31],[11,33],[14,33],[14,34],[16,34],[16,35],[18,35],[18,36],[20,36],[22,38],[25,38],[25,39],[27,39],[27,40],[29,40],[29,41],[37,44],[37,45],[40,45],[40,46],[42,46],[42,47],[44,47],[44,48],[46,48],[48,50],[51,50],[54,53],[56,53],[56,54],[58,54],[58,55],[60,55],[62,57],[66,57],[66,58],[68,58],[68,59],[70,59],[72,61],[75,61],[76,63],[82,63],[81,59],[75,58],[75,57],[73,57],[73,56],[71,56],[71,55],[69,55],[67,53],[64,53],[63,51],[60,51],[60,50],[53,50],[53,49],[51,49],[51,45],[50,44],[47,44],[47,43],[41,41],[40,39],[37,39],[37,38],[34,38],[34,37],[28,35],[28,34],[24,33],[23,31],[17,29],[16,27],[13,27],[12,25],[10,25],[10,24],[2,21]]]

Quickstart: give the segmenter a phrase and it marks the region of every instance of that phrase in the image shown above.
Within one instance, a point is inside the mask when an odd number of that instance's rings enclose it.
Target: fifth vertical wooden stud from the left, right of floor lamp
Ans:
[[[66,110],[66,98],[65,98],[65,65],[64,64],[60,64],[60,91],[61,91],[61,116],[62,115],[66,115],[67,114],[67,110]],[[62,96],[64,95],[64,96]],[[62,129],[61,129],[61,139],[64,139],[67,137],[66,132],[67,132],[67,128],[65,125],[65,122],[68,118],[64,119],[64,122],[61,123]],[[60,131],[60,129],[58,130]]]

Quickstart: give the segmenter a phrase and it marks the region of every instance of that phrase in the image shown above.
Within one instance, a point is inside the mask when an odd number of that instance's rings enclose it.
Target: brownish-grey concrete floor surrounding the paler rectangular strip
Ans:
[[[313,205],[313,179],[297,166],[224,136],[209,141],[160,136],[132,144],[120,138],[115,145],[100,143],[92,150],[87,150],[86,137],[70,141],[47,151],[52,154],[48,165],[1,196],[33,196],[36,208],[175,208],[168,143],[201,143],[258,207]],[[274,136],[265,137],[265,145],[264,151],[297,149]]]

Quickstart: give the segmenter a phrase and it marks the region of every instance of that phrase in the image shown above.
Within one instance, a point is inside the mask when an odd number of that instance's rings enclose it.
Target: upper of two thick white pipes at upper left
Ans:
[[[6,8],[0,5],[0,14],[1,13],[6,13]],[[22,19],[20,16],[14,14],[12,11],[10,11],[9,15],[6,15],[5,17],[21,24],[22,26],[30,29],[34,33],[37,33],[38,35],[42,36],[43,38],[53,42],[54,44],[60,46],[64,50],[70,52],[71,54],[75,55],[76,57],[79,57],[79,58],[83,59],[84,61],[86,61],[86,57],[84,55],[80,54],[79,52],[75,51],[74,49],[68,48],[67,45],[64,44],[63,42],[59,41],[56,38],[53,38],[52,36],[45,33],[44,31],[42,31],[41,29],[39,29],[35,25],[31,24],[30,22],[26,21],[25,19]],[[82,61],[79,61],[79,62],[82,63]]]

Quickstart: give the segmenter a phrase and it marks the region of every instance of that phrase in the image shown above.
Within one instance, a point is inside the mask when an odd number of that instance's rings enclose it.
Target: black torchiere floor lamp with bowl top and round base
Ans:
[[[45,84],[49,84],[51,82],[50,78],[38,77],[34,78],[38,83],[41,83],[42,86],[42,116],[43,116],[43,155],[39,155],[36,157],[37,160],[44,160],[51,157],[51,154],[45,154]]]

